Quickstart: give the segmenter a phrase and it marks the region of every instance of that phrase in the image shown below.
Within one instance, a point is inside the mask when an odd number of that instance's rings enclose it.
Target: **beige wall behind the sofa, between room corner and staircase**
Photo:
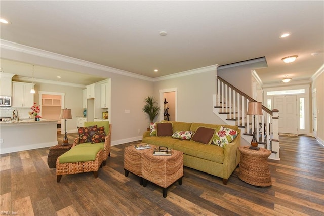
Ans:
[[[178,121],[224,123],[213,113],[212,95],[216,94],[216,67],[208,72],[157,81],[154,83],[154,97],[159,98],[159,90],[172,88],[178,88]]]

